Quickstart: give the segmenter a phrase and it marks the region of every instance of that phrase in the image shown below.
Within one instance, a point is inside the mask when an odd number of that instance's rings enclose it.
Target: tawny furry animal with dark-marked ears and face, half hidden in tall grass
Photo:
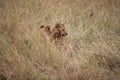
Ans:
[[[55,44],[62,45],[67,50],[67,53],[71,53],[73,48],[68,42],[65,41],[67,36],[66,28],[64,24],[57,23],[55,27],[52,26],[41,26],[41,32],[43,37],[49,42],[55,42]]]

